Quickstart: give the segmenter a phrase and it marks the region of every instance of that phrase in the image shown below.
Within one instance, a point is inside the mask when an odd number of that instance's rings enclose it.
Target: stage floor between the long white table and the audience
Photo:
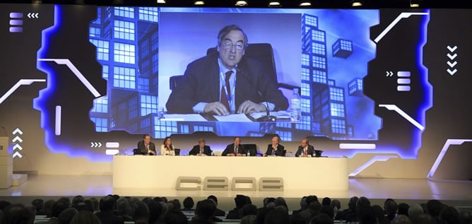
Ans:
[[[381,179],[350,178],[348,191],[175,191],[172,189],[113,189],[112,175],[30,175],[28,181],[18,187],[0,189],[2,200],[12,202],[30,201],[35,198],[58,198],[60,196],[83,195],[87,197],[119,194],[120,196],[166,196],[167,199],[184,199],[192,196],[203,199],[213,194],[220,199],[220,206],[232,208],[236,194],[250,196],[254,204],[261,204],[266,196],[281,196],[288,204],[299,206],[302,196],[314,194],[319,198],[329,196],[340,199],[346,208],[351,196],[366,196],[373,204],[382,204],[387,198],[406,203],[425,203],[438,199],[455,206],[472,206],[471,181],[447,181],[430,179]],[[22,202],[24,203],[24,202]]]

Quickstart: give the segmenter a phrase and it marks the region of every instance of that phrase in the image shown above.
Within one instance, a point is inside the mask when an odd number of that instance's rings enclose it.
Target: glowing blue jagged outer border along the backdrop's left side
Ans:
[[[59,5],[54,5],[54,25],[45,30],[42,30],[42,40],[41,47],[37,51],[37,59],[45,58],[45,53],[49,49],[49,37],[56,33],[61,25],[61,7]],[[41,112],[41,128],[45,130],[45,145],[52,153],[66,153],[67,156],[71,158],[87,158],[91,162],[112,162],[112,156],[97,156],[95,153],[90,153],[83,151],[81,153],[76,153],[73,151],[71,146],[66,146],[64,144],[59,144],[54,142],[54,130],[49,124],[49,114],[47,113],[47,108],[45,107],[44,99],[51,97],[54,93],[54,86],[56,86],[56,79],[53,74],[54,71],[49,66],[45,64],[45,61],[36,61],[37,69],[43,71],[47,74],[47,87],[40,90],[38,97],[33,100],[33,108]]]

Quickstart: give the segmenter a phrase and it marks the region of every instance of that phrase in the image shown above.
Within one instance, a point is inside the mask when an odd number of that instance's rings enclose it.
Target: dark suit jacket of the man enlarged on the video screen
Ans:
[[[278,83],[269,76],[258,61],[242,57],[237,64],[235,109],[245,100],[271,102],[275,110],[285,110],[288,100],[278,90]],[[261,93],[261,95],[258,93]],[[193,113],[192,107],[199,102],[220,101],[220,68],[218,54],[211,54],[187,66],[178,87],[167,100],[167,111],[173,114]]]

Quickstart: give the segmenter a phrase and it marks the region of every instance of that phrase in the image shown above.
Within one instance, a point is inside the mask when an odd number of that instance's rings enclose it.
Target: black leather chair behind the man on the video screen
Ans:
[[[206,55],[218,54],[216,47],[208,48]],[[277,72],[276,72],[276,63],[273,59],[273,49],[272,45],[268,43],[256,43],[249,44],[247,49],[244,52],[244,57],[252,58],[256,61],[259,61],[269,73],[274,80],[277,81]],[[179,81],[183,76],[171,76],[169,79],[170,90],[173,90],[179,85]],[[286,83],[278,83],[279,88],[285,88],[293,90],[293,88],[298,88],[298,94],[300,94],[300,86],[293,86]]]

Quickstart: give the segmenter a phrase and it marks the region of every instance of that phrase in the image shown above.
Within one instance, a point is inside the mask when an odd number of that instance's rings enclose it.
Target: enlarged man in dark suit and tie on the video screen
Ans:
[[[244,56],[247,35],[237,25],[218,33],[218,54],[187,66],[167,100],[170,113],[252,113],[285,110],[288,101],[258,61]],[[269,109],[266,108],[269,105]]]

